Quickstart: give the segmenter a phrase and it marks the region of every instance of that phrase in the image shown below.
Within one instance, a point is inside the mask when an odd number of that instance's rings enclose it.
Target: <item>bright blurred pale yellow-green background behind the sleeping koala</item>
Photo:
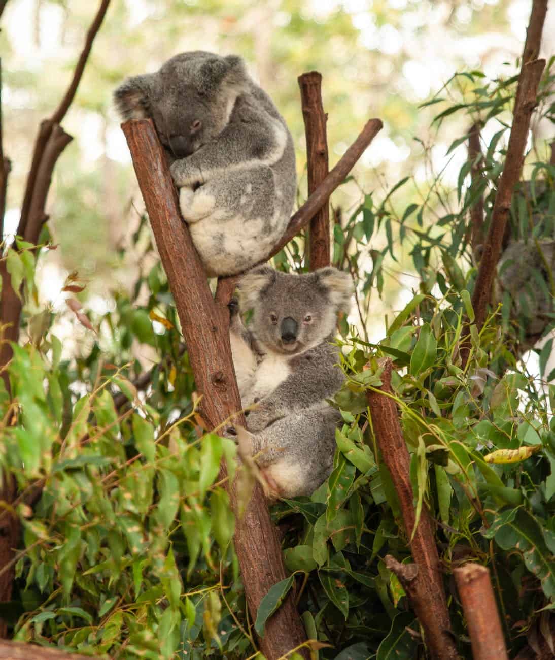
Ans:
[[[49,229],[61,249],[42,259],[42,299],[62,305],[61,285],[67,273],[78,269],[91,281],[90,304],[102,314],[110,304],[106,288],[129,288],[136,279],[138,254],[130,237],[139,215],[133,204],[136,201],[140,211],[142,200],[111,102],[113,88],[127,75],[154,71],[183,50],[241,53],[291,127],[303,191],[305,138],[296,79],[303,71],[317,69],[324,75],[330,165],[369,116],[381,117],[385,124],[357,166],[355,180],[343,186],[332,203],[347,211],[359,203],[360,189],[376,191],[379,200],[403,174],[413,172],[421,189],[409,186],[395,197],[395,205],[404,209],[414,195],[426,197],[434,172],[447,164],[446,150],[458,129],[452,122],[448,134],[430,133],[435,109],[421,109],[419,104],[461,68],[480,68],[488,77],[511,75],[530,4],[527,0],[113,3],[65,120],[74,141],[57,165],[49,197]],[[91,3],[65,0],[7,3],[0,44],[5,53],[5,152],[13,160],[8,234],[18,221],[30,137],[67,85],[94,11]],[[546,53],[555,43],[554,23],[555,16],[548,15]],[[511,65],[504,67],[507,61]],[[544,130],[542,125],[535,127],[538,134]],[[450,158],[446,174],[451,173],[448,183],[454,183],[465,159],[464,147]],[[382,248],[381,241],[381,236],[374,238],[371,247]],[[389,265],[394,277],[384,290],[388,307],[402,304],[407,296],[399,298],[400,292],[415,284],[403,274],[404,265],[402,257],[399,264]],[[372,309],[381,327],[378,318],[384,308],[378,303]]]

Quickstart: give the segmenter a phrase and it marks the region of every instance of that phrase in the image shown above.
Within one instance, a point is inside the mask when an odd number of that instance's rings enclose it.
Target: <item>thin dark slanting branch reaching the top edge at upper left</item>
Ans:
[[[88,29],[86,38],[85,38],[85,44],[82,49],[82,52],[79,56],[77,65],[75,67],[75,71],[73,74],[73,78],[69,84],[69,87],[67,89],[67,92],[65,93],[63,99],[61,100],[59,106],[56,108],[54,111],[53,115],[49,119],[44,119],[41,124],[40,128],[38,131],[38,135],[36,137],[35,141],[35,147],[33,150],[33,157],[31,160],[31,167],[29,170],[29,174],[27,175],[27,181],[25,185],[25,193],[23,195],[23,201],[21,205],[21,216],[19,220],[19,225],[17,228],[17,233],[19,236],[24,236],[26,233],[26,226],[27,226],[27,219],[28,219],[28,213],[32,201],[32,197],[34,194],[34,186],[35,186],[35,179],[37,176],[38,168],[41,164],[42,157],[44,154],[44,149],[47,145],[48,139],[50,137],[50,133],[53,129],[53,126],[55,124],[59,124],[63,117],[65,117],[65,114],[69,110],[69,106],[71,105],[71,102],[73,101],[73,98],[75,96],[75,92],[77,90],[77,87],[79,85],[79,82],[82,78],[84,68],[88,59],[88,56],[90,55],[90,50],[92,48],[92,42],[94,41],[94,38],[96,37],[96,34],[98,33],[98,30],[100,30],[100,26],[102,25],[103,18],[105,16],[106,10],[108,8],[108,5],[110,3],[110,0],[102,0],[100,3],[100,7],[98,9],[98,12],[93,20],[93,22],[90,25],[90,28]]]

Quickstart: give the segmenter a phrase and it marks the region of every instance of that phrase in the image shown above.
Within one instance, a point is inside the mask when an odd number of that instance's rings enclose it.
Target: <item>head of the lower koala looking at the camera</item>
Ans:
[[[252,333],[264,348],[295,354],[334,333],[337,312],[349,312],[353,282],[347,273],[321,268],[307,275],[258,266],[239,281],[241,308],[252,309]]]

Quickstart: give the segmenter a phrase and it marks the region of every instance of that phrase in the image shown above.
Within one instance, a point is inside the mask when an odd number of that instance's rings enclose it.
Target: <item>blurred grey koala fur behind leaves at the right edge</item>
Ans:
[[[533,240],[525,243],[515,241],[502,253],[497,265],[498,285],[496,298],[502,293],[511,294],[517,315],[526,319],[525,335],[538,335],[552,321],[549,316],[554,311],[553,297],[548,271],[555,270],[555,241],[541,240],[538,245]],[[542,279],[545,287],[538,279]]]

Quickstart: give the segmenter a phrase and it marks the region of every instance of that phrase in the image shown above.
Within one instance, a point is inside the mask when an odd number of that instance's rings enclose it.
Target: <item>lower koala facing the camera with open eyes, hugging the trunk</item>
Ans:
[[[330,475],[339,413],[326,399],[343,384],[334,339],[337,312],[349,311],[351,277],[335,268],[307,275],[260,266],[239,281],[231,306],[231,350],[250,453],[274,494],[310,495]],[[227,428],[233,436],[233,427]]]

